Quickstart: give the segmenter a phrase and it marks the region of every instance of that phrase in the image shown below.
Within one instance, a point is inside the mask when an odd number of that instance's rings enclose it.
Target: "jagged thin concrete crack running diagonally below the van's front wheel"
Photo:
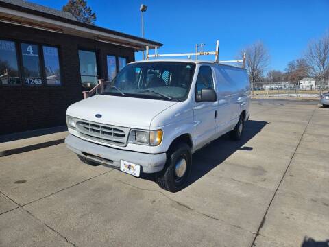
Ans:
[[[219,218],[217,218],[217,217],[214,217],[214,216],[212,216],[212,215],[208,215],[208,214],[206,214],[206,213],[202,213],[202,212],[198,211],[197,209],[193,209],[192,207],[190,207],[190,206],[188,206],[188,205],[186,205],[186,204],[184,204],[184,203],[182,203],[182,202],[178,202],[178,201],[176,201],[176,200],[173,200],[173,198],[170,198],[169,196],[167,196],[167,195],[166,195],[165,193],[163,193],[162,191],[158,191],[158,190],[156,190],[156,189],[143,189],[143,188],[138,187],[138,186],[136,186],[136,185],[132,185],[132,184],[130,184],[130,183],[127,183],[127,182],[123,182],[123,181],[121,181],[121,180],[118,180],[117,178],[114,178],[114,180],[116,180],[116,181],[119,182],[119,183],[123,183],[124,185],[130,186],[130,187],[134,187],[135,189],[140,189],[140,190],[142,190],[142,191],[153,191],[153,192],[156,192],[156,193],[160,193],[162,196],[164,196],[165,198],[169,199],[171,202],[174,202],[174,203],[178,204],[180,207],[184,207],[184,208],[188,209],[189,211],[194,211],[195,213],[198,213],[199,215],[202,215],[202,216],[204,216],[204,217],[208,217],[208,218],[210,218],[211,220],[217,220],[217,221],[219,221],[219,222],[221,222],[221,223],[223,223],[223,224],[226,224],[226,225],[228,225],[228,226],[232,226],[232,227],[234,227],[234,228],[239,228],[239,229],[241,229],[241,230],[243,230],[243,231],[247,231],[247,232],[249,232],[249,233],[252,233],[252,234],[256,235],[256,233],[254,233],[253,231],[249,231],[249,230],[247,230],[247,229],[245,229],[245,228],[242,228],[241,226],[236,226],[236,225],[234,225],[234,224],[230,224],[230,223],[225,222],[225,221],[223,221],[223,220],[221,220],[221,219],[219,219]]]

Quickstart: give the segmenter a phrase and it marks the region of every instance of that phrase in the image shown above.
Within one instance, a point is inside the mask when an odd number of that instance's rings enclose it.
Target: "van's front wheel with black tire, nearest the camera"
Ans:
[[[167,163],[156,182],[167,191],[177,192],[184,188],[191,174],[192,154],[186,143],[180,143],[167,154]]]

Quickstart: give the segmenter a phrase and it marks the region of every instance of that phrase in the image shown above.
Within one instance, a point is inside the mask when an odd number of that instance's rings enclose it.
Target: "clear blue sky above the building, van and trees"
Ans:
[[[61,9],[67,0],[29,0]],[[145,38],[163,44],[158,52],[214,51],[220,42],[221,60],[236,58],[246,45],[261,40],[271,60],[267,70],[284,70],[300,58],[310,40],[329,32],[329,0],[87,0],[97,15],[95,25],[141,36],[141,3]],[[141,60],[141,52],[136,60]],[[212,56],[202,58],[214,59]]]

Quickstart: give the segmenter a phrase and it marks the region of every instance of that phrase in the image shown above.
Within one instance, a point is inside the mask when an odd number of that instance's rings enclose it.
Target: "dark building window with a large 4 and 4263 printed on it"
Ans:
[[[38,45],[21,43],[25,85],[42,85]]]

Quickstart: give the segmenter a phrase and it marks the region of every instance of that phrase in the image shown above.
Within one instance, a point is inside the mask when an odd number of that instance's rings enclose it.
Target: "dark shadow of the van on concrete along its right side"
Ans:
[[[252,139],[264,126],[268,123],[266,121],[249,120],[245,123],[245,130],[240,141],[232,141],[228,134],[219,137],[219,139],[212,141],[209,145],[198,150],[193,154],[193,167],[188,185],[193,184],[199,178],[206,175],[212,169],[221,165],[223,161],[234,154],[236,150],[251,151],[253,148],[244,146],[247,141]]]

